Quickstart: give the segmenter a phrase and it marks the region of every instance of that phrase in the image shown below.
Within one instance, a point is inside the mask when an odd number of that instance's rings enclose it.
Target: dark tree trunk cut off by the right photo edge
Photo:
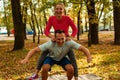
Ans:
[[[113,0],[115,38],[114,44],[120,45],[120,0]]]

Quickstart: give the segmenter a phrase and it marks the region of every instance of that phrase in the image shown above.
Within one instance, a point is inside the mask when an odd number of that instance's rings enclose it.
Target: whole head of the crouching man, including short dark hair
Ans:
[[[65,42],[65,33],[63,30],[56,30],[55,31],[55,39],[56,39],[56,43],[59,46],[62,46],[63,43]]]

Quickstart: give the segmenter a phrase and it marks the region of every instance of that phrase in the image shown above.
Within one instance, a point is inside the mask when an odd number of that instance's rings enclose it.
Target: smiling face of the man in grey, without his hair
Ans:
[[[58,46],[62,46],[65,42],[65,34],[64,33],[56,33],[56,43]]]

